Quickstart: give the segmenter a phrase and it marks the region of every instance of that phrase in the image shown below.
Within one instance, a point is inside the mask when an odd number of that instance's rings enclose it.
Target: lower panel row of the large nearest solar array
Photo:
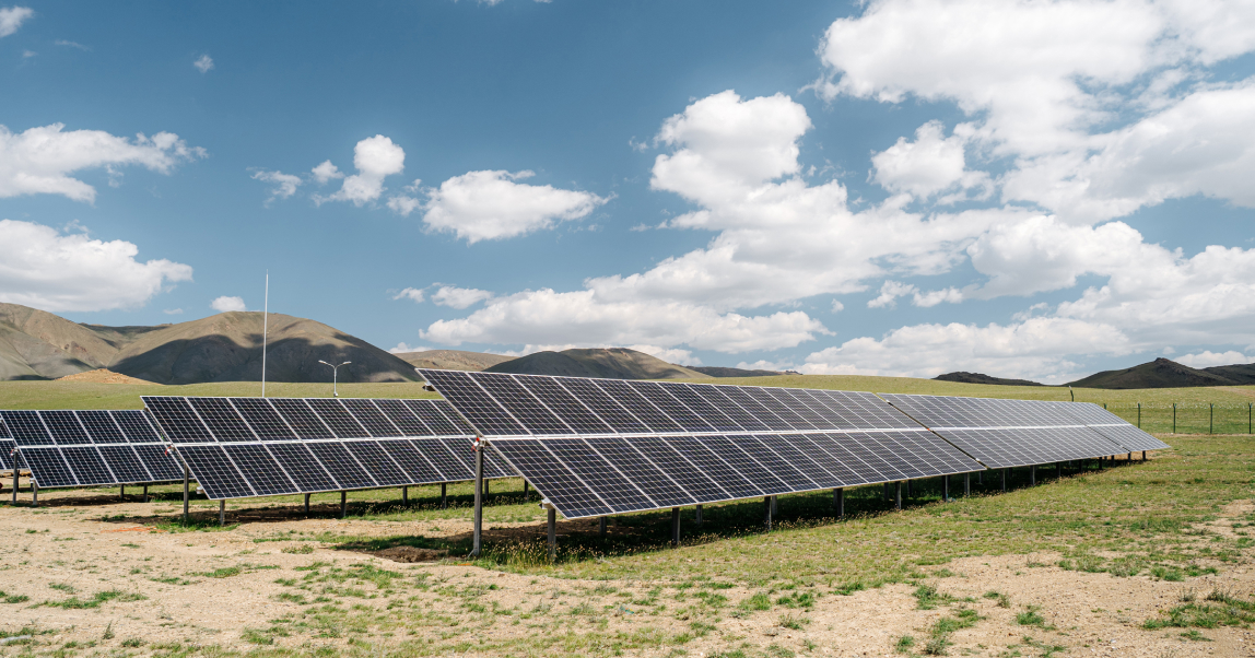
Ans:
[[[489,446],[567,519],[981,470],[927,431],[516,438]]]

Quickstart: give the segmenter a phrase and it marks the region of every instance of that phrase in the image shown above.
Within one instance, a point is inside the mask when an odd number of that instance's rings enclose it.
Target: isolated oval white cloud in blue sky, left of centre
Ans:
[[[532,176],[530,171],[472,171],[449,178],[429,191],[423,222],[474,244],[579,220],[610,201],[591,192],[516,182]]]

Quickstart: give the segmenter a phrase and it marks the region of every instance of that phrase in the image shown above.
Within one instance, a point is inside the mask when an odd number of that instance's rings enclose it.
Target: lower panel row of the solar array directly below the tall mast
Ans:
[[[474,480],[467,438],[193,442],[176,450],[213,500]],[[511,475],[484,460],[484,477]]]

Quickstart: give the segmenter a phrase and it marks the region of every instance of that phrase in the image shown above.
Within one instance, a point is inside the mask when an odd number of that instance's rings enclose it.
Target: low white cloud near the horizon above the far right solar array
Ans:
[[[1033,318],[1012,325],[921,324],[881,339],[856,338],[816,352],[806,374],[936,377],[954,370],[1060,383],[1078,377],[1078,355],[1122,355],[1131,342],[1117,328],[1082,320]]]

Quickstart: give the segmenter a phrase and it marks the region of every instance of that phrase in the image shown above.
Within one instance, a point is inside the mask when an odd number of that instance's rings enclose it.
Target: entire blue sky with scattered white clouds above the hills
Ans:
[[[0,5],[0,301],[1064,382],[1255,360],[1255,13]]]

